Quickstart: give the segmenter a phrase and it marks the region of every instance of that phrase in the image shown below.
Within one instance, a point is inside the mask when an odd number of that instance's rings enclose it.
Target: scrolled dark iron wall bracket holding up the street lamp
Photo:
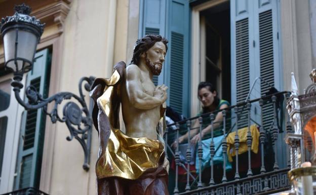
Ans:
[[[85,96],[83,94],[83,83],[86,91],[90,91],[91,85],[95,77],[82,77],[79,81],[79,94],[77,96],[70,92],[60,92],[51,97],[43,98],[41,94],[37,92],[34,86],[28,86],[26,88],[25,94],[28,99],[28,103],[24,102],[20,97],[20,89],[23,85],[20,83],[21,76],[15,75],[15,81],[12,82],[13,91],[15,97],[19,104],[21,104],[26,110],[42,108],[44,112],[50,116],[52,123],[57,121],[61,123],[66,123],[70,135],[66,138],[71,141],[73,138],[78,140],[84,149],[85,160],[83,168],[88,171],[89,161],[90,161],[90,147],[91,147],[91,133],[92,133],[92,118],[89,112],[88,106],[85,101]],[[63,115],[58,114],[58,105],[61,104],[63,100],[75,99],[78,103],[73,101],[67,102],[63,106]],[[47,105],[54,102],[52,110],[48,110]]]

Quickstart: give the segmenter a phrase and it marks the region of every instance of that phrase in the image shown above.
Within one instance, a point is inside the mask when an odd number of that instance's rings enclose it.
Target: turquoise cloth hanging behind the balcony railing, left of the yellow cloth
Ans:
[[[225,138],[224,135],[213,138],[215,150],[219,146],[218,150],[216,151],[214,155],[214,159],[213,159],[214,165],[223,164],[223,148],[222,148],[221,143],[224,138]],[[202,170],[205,169],[206,167],[211,166],[211,151],[210,151],[211,140],[212,138],[202,140],[202,149],[203,149]],[[199,170],[199,155],[198,154],[196,154],[196,157],[195,157],[195,169],[196,169],[196,172],[199,173],[200,170]],[[230,171],[230,170],[231,170],[231,164],[226,157],[226,171]]]

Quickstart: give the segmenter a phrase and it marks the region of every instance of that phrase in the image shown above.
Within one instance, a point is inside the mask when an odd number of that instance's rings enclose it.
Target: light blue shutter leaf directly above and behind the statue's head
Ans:
[[[140,29],[139,38],[146,34],[160,34],[165,36],[165,7],[166,0],[141,0],[140,1]],[[162,84],[164,67],[159,76],[154,75],[154,85]]]

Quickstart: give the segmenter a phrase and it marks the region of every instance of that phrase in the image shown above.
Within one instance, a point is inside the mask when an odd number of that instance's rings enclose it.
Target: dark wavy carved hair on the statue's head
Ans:
[[[168,50],[168,40],[162,37],[161,35],[156,34],[147,34],[146,36],[139,38],[136,41],[136,45],[134,48],[133,58],[131,60],[131,64],[139,65],[139,57],[143,53],[147,52],[156,42],[163,42],[166,46],[166,52]]]

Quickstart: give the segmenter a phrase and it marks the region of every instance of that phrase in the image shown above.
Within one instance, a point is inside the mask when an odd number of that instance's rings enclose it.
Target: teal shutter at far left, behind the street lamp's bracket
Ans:
[[[48,95],[49,50],[37,52],[36,62],[27,74],[26,86],[32,85],[37,91]],[[22,118],[20,143],[17,159],[15,189],[25,187],[39,188],[46,115],[43,110],[25,111]]]

